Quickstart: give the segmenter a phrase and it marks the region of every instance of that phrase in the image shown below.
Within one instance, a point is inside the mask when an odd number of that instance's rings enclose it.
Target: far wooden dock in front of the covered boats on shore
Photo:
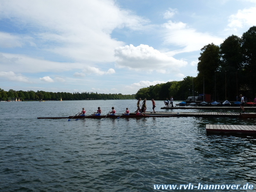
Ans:
[[[238,110],[241,111],[239,106],[234,106],[234,107],[224,107],[224,106],[216,106],[216,107],[203,107],[203,106],[183,106],[183,107],[161,107],[161,109],[211,109],[211,110],[216,110],[216,109],[227,109],[227,110]],[[244,107],[246,110],[256,110],[256,107]]]

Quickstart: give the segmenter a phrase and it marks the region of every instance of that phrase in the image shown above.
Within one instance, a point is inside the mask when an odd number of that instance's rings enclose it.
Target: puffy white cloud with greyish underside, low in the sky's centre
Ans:
[[[148,45],[126,45],[115,49],[117,67],[144,71],[158,71],[165,73],[169,68],[179,68],[185,66],[187,62],[177,60],[173,57],[155,50]]]

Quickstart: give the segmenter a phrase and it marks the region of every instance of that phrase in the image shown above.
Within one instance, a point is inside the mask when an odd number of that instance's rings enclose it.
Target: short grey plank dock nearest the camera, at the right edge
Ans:
[[[249,133],[249,134],[256,134],[256,126],[206,124],[206,133]]]

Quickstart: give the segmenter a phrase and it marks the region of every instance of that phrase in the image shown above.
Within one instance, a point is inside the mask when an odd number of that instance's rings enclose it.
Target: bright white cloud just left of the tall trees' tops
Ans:
[[[213,36],[210,33],[199,33],[183,22],[168,21],[162,26],[165,31],[165,44],[180,47],[180,50],[168,52],[169,55],[198,51],[209,43],[219,45],[223,42],[223,39]]]

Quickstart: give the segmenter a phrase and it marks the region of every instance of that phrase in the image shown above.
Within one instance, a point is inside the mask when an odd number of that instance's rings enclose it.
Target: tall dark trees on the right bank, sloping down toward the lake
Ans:
[[[242,94],[248,100],[256,95],[256,26],[242,37],[231,35],[220,45],[210,43],[201,48],[197,64],[198,75],[182,81],[172,81],[141,88],[135,98],[175,100],[210,94],[211,100],[236,101]]]

